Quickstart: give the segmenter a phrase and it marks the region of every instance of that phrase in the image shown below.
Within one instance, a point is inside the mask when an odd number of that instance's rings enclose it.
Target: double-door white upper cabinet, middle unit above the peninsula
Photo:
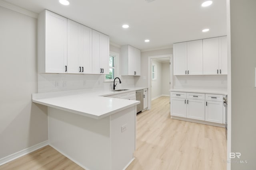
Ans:
[[[92,29],[68,20],[68,73],[92,73]]]

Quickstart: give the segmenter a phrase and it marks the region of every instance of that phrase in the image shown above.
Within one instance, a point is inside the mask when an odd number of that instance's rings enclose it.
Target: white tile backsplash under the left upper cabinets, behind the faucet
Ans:
[[[38,74],[38,93],[77,89],[112,90],[113,82],[104,82],[105,75],[96,74]],[[120,76],[116,89],[134,87],[134,76]]]

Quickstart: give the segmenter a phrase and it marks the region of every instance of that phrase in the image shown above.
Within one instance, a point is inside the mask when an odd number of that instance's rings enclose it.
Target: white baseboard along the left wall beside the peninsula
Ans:
[[[48,145],[48,140],[0,159],[0,166]]]

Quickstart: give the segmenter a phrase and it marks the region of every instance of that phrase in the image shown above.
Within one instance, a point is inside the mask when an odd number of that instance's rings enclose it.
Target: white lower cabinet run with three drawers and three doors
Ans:
[[[220,94],[170,92],[170,114],[176,117],[223,124],[225,112],[222,96]]]

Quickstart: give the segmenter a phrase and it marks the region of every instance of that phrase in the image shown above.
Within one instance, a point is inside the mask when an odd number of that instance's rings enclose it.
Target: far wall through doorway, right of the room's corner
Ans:
[[[162,95],[170,96],[170,63],[162,63]]]

